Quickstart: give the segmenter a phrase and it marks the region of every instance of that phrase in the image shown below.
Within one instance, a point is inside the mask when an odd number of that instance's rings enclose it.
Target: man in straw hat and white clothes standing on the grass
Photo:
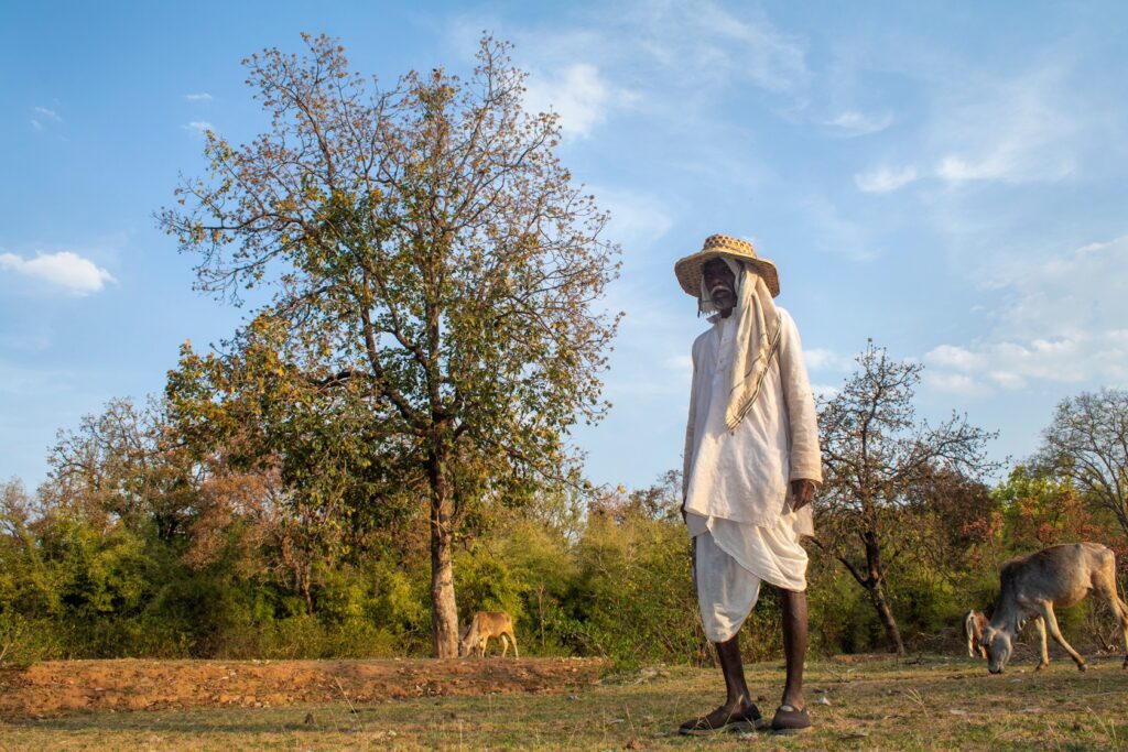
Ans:
[[[807,552],[811,496],[822,481],[814,398],[795,325],[773,298],[775,265],[752,245],[714,235],[675,265],[682,290],[711,313],[694,342],[682,515],[694,540],[702,623],[716,644],[725,701],[685,734],[763,728],[744,683],[738,632],[761,582],[779,589],[787,679],[772,719],[805,731]]]

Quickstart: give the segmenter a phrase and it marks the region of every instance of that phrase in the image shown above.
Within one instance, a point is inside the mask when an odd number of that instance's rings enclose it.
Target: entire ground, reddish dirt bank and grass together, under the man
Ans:
[[[588,661],[526,658],[505,663],[490,658],[481,663],[44,664],[23,672],[19,687],[0,687],[0,701],[12,706],[21,697],[20,707],[28,700],[39,707],[45,698],[53,698],[55,710],[23,718],[5,718],[0,713],[0,752],[735,752],[750,745],[773,751],[1128,752],[1128,671],[1121,670],[1119,656],[1095,656],[1084,673],[1068,660],[1055,657],[1049,669],[1039,672],[1033,671],[1034,663],[1019,661],[1006,673],[993,676],[982,661],[967,656],[812,661],[807,671],[811,732],[711,738],[679,736],[677,727],[721,699],[723,685],[716,669],[646,666],[596,680],[600,667]],[[109,698],[100,696],[109,687],[87,687],[91,676],[105,679],[107,673],[115,678],[113,702],[125,705],[106,704]],[[749,664],[746,673],[757,704],[770,714],[783,687],[782,663]],[[199,690],[193,681],[200,683]],[[555,691],[566,681],[576,683]],[[447,690],[450,693],[428,695]],[[371,701],[361,701],[362,695]],[[268,699],[272,696],[276,697]],[[81,709],[65,710],[60,702],[65,697],[71,698],[70,707]],[[273,705],[290,697],[293,705]],[[127,705],[130,698],[144,709],[120,709],[133,707]],[[157,698],[169,705],[155,705]],[[187,707],[190,702],[196,705]],[[256,702],[264,705],[255,707]],[[265,702],[272,702],[271,707]]]

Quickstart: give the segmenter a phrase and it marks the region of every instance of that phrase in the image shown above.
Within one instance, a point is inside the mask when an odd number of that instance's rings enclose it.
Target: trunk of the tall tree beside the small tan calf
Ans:
[[[458,657],[458,607],[455,569],[450,560],[451,498],[446,451],[435,442],[430,457],[431,480],[431,640],[437,658]]]

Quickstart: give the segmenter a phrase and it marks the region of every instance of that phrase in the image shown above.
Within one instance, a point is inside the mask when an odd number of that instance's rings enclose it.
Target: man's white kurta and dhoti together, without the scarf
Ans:
[[[694,343],[694,381],[686,427],[686,523],[696,539],[695,574],[702,622],[723,643],[743,623],[760,582],[807,589],[811,507],[791,512],[791,480],[821,481],[814,397],[791,316],[778,309],[781,340],[752,409],[724,424],[726,357],[735,327],[717,319]]]

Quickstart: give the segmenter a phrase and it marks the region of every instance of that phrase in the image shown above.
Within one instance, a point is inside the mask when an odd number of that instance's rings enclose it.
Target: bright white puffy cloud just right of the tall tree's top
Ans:
[[[573,63],[548,76],[530,76],[525,101],[531,112],[559,114],[565,135],[591,135],[592,129],[607,118],[610,110],[635,99],[625,90],[615,89],[590,63]]]

